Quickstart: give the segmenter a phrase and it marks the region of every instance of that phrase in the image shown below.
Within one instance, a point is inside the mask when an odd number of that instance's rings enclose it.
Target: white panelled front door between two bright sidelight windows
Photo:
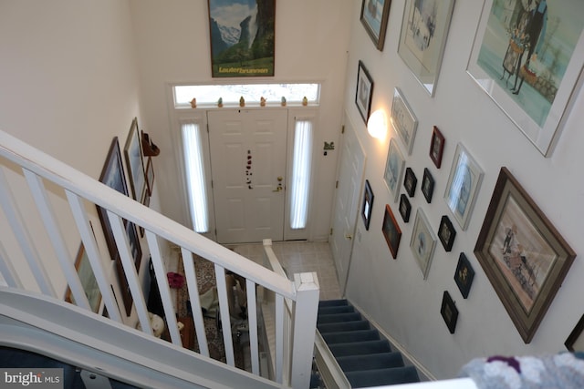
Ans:
[[[287,109],[221,109],[207,119],[217,241],[283,241]]]

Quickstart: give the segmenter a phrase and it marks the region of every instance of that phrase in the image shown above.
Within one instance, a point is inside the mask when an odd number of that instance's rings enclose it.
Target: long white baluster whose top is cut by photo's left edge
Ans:
[[[35,277],[38,288],[44,294],[56,297],[57,295],[53,289],[53,285],[48,281],[49,277],[47,276],[47,271],[45,271],[45,268],[38,260],[39,255],[38,251],[36,251],[35,244],[33,243],[28,230],[26,230],[22,223],[22,216],[16,207],[16,201],[10,191],[4,169],[0,169],[0,205],[4,210],[8,223],[11,225],[12,230],[15,233],[16,241],[18,241],[20,250],[22,250],[25,255],[26,262]]]

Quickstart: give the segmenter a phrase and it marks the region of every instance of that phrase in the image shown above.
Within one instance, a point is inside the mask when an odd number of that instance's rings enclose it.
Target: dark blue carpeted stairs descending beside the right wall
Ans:
[[[405,366],[401,353],[372,328],[347,300],[318,304],[317,329],[351,387],[419,382],[414,366]]]

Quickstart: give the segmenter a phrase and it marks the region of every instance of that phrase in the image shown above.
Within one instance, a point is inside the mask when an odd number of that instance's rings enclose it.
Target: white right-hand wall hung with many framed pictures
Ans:
[[[584,93],[577,92],[576,107],[559,138],[551,157],[544,158],[493,101],[465,73],[473,46],[483,2],[457,1],[443,56],[436,93],[430,97],[418,84],[401,57],[397,46],[405,0],[391,2],[385,47],[378,51],[360,24],[360,0],[353,1],[352,36],[345,107],[367,152],[366,178],[375,194],[371,227],[366,231],[359,221],[360,241],[355,244],[347,295],[368,312],[374,321],[401,343],[437,378],[455,376],[471,358],[493,354],[557,353],[578,322],[584,265],[577,257],[533,340],[525,344],[511,322],[503,304],[476,260],[473,250],[485,211],[502,166],[506,166],[537,205],[557,227],[574,251],[584,251],[584,181],[578,169],[584,164]],[[391,111],[394,87],[400,87],[419,120],[412,155],[406,166],[418,177],[412,202],[412,218],[404,223],[397,212],[398,203],[390,200],[382,176],[391,137],[390,127],[382,141],[370,138],[354,103],[358,61],[363,60],[374,80],[372,110]],[[436,169],[428,156],[433,126],[446,138],[443,165]],[[415,211],[426,213],[434,231],[442,215],[453,219],[443,193],[454,149],[462,142],[485,170],[474,212],[467,230],[455,224],[456,238],[451,252],[438,241],[428,279],[414,262],[410,251]],[[403,149],[403,148],[402,148]],[[423,169],[429,168],[436,181],[434,197],[428,204],[420,191]],[[397,260],[381,234],[385,204],[390,204],[399,221],[402,236]],[[359,234],[357,234],[359,235]],[[454,283],[454,269],[463,251],[471,261],[474,283],[464,300]],[[453,296],[459,310],[456,332],[451,335],[440,315],[443,291]]]

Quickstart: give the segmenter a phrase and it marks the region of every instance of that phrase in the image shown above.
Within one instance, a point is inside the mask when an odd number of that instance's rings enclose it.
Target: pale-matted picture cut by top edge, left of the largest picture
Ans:
[[[454,0],[406,0],[398,54],[422,87],[434,95]]]

